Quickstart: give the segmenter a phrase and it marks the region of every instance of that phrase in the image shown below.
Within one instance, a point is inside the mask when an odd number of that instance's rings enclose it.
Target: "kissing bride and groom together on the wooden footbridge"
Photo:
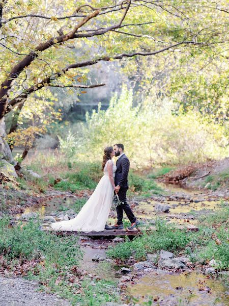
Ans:
[[[112,161],[114,156],[118,157],[117,163]],[[114,147],[106,147],[102,162],[103,176],[95,191],[84,204],[78,215],[71,220],[55,222],[51,224],[53,230],[80,231],[84,233],[101,232],[111,229],[123,228],[123,211],[131,222],[128,227],[132,230],[139,224],[130,206],[127,203],[126,193],[128,190],[128,172],[130,168],[129,159],[124,154],[124,146],[117,143]],[[117,210],[117,223],[108,226],[106,224],[109,216],[113,195],[119,196]]]

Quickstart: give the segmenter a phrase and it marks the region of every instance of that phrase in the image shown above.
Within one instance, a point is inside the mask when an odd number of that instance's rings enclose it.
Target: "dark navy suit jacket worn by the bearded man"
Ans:
[[[129,184],[128,184],[128,173],[130,169],[130,161],[126,157],[125,154],[123,154],[116,163],[116,176],[115,176],[115,184],[116,186],[119,185],[121,188],[128,189]]]

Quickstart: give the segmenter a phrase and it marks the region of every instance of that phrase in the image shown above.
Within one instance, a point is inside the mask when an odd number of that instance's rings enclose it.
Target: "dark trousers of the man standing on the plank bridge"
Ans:
[[[136,218],[127,203],[127,198],[126,198],[126,193],[127,189],[125,188],[120,188],[118,195],[119,195],[119,200],[122,202],[121,205],[118,205],[116,208],[117,211],[117,217],[118,217],[118,222],[117,224],[123,224],[123,211],[126,213],[128,219],[130,220],[131,223],[136,222]]]

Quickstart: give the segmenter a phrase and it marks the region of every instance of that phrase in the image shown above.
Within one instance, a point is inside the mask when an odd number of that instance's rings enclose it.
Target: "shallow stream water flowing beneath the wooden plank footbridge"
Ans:
[[[206,191],[162,184],[161,187],[165,190],[163,196],[153,195],[141,201],[130,198],[130,205],[135,215],[143,223],[150,221],[155,224],[155,219],[160,217],[166,222],[195,224],[196,216],[206,215],[222,206],[220,197]],[[75,214],[72,207],[77,198],[78,196],[72,193],[52,190],[43,197],[41,205],[24,207],[23,214],[38,213],[41,218],[44,216],[56,218],[60,214],[67,214],[69,218],[73,218]],[[166,213],[156,211],[155,207],[160,208],[161,204],[168,205],[169,211]],[[21,213],[15,214],[14,218],[21,220],[22,216]],[[108,224],[114,223],[115,217],[116,213],[111,211]],[[46,227],[49,224],[44,221],[43,226]],[[146,269],[139,272],[132,266],[117,265],[106,259],[107,247],[115,243],[112,237],[108,239],[80,237],[80,247],[84,252],[80,268],[87,271],[92,278],[117,281],[126,302],[134,298],[138,305],[143,305],[149,299],[152,299],[153,304],[166,306],[229,305],[229,287],[214,276],[203,275],[196,270],[173,273],[160,269]],[[103,260],[92,261],[95,254]],[[130,268],[131,272],[125,275],[118,272],[122,267]]]

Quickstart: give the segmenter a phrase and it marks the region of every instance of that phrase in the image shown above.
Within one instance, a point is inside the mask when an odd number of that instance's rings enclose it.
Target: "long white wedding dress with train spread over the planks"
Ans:
[[[117,167],[112,160],[108,160],[104,167],[104,175],[78,215],[71,220],[51,223],[53,230],[80,231],[85,233],[104,230],[113,197],[113,187],[107,171],[108,163],[112,163],[113,177],[115,177]]]

